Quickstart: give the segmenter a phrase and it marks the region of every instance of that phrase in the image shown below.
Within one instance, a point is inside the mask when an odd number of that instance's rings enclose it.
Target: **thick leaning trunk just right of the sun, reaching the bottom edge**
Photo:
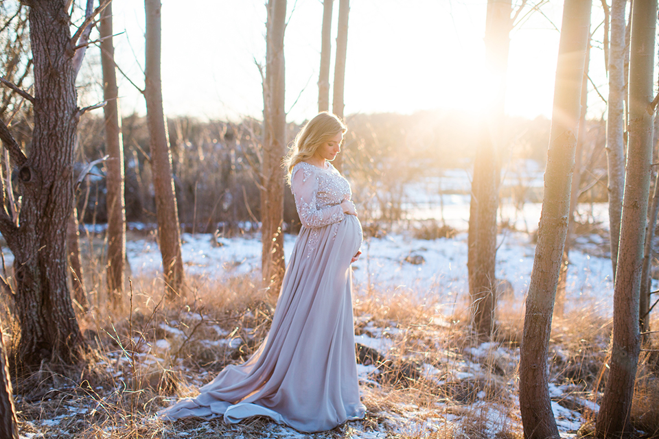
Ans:
[[[559,437],[549,399],[547,353],[568,230],[591,3],[566,0],[563,7],[544,198],[520,350],[520,410],[527,439]]]

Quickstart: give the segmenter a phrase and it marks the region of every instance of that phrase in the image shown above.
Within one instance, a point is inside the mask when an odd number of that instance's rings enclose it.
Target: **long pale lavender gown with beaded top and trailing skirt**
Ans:
[[[340,204],[350,185],[329,163],[301,162],[291,188],[303,227],[295,242],[273,324],[246,363],[227,366],[192,399],[159,412],[165,420],[268,416],[300,431],[325,431],[363,418],[352,313],[350,262],[362,228]]]

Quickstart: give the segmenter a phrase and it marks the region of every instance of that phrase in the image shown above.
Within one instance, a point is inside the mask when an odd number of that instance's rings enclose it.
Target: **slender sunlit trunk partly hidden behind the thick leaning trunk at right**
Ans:
[[[556,288],[556,303],[554,317],[563,317],[565,312],[566,285],[568,283],[568,267],[570,266],[570,248],[575,239],[575,211],[579,202],[579,187],[581,186],[581,161],[583,158],[583,139],[586,139],[586,111],[588,110],[588,65],[590,64],[590,37],[586,49],[586,64],[583,66],[583,81],[581,81],[581,115],[579,115],[579,134],[575,150],[575,171],[570,189],[570,213],[568,214],[568,234],[563,248],[563,261]]]

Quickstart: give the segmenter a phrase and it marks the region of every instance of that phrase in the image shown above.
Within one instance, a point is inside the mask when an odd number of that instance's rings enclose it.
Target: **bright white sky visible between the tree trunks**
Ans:
[[[187,0],[182,6],[181,1],[163,0],[162,69],[167,115],[232,120],[261,117],[262,86],[255,60],[264,61],[264,3]],[[351,1],[345,114],[476,108],[483,100],[486,3]],[[287,12],[286,110],[288,121],[303,121],[317,109],[322,1],[288,0]],[[529,12],[528,6],[524,12]],[[133,82],[143,86],[143,2],[113,0],[113,14],[115,34],[124,32],[115,37],[117,63]],[[560,27],[561,14],[562,1],[551,0],[511,32],[509,115],[551,117],[559,41],[554,25]],[[593,29],[599,24],[599,15],[593,16]],[[338,0],[334,1],[332,18],[334,52]],[[88,56],[95,51],[91,47]],[[94,59],[98,59],[97,54],[88,61],[93,63]],[[591,65],[603,71],[600,49],[594,49]],[[330,78],[333,71],[334,53]],[[605,87],[603,73],[599,75],[603,79],[595,82]],[[144,112],[143,97],[135,88],[123,78],[119,87],[124,114]],[[595,103],[599,97],[591,93],[589,99]],[[601,110],[593,116],[599,115]]]

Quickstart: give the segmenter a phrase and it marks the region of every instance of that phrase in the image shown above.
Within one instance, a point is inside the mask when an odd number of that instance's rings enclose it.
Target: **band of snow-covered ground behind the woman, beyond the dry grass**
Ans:
[[[222,246],[212,246],[212,235],[184,233],[181,252],[185,270],[191,276],[221,279],[258,270],[261,263],[260,235],[220,238]],[[584,238],[585,239],[585,238]],[[592,235],[583,246],[570,252],[568,269],[567,308],[590,309],[609,316],[612,312],[610,259],[595,256],[587,242],[601,239]],[[286,235],[284,250],[290,257],[295,237]],[[507,307],[520,309],[529,289],[533,269],[535,244],[527,233],[509,232],[500,235],[497,251],[497,278],[509,281],[513,296],[506,296]],[[157,276],[161,272],[161,256],[150,239],[126,243],[132,274]],[[452,239],[415,239],[405,234],[367,238],[362,244],[362,256],[353,264],[354,282],[358,292],[372,285],[395,294],[412,294],[423,300],[437,300],[450,312],[467,302],[467,234]]]

